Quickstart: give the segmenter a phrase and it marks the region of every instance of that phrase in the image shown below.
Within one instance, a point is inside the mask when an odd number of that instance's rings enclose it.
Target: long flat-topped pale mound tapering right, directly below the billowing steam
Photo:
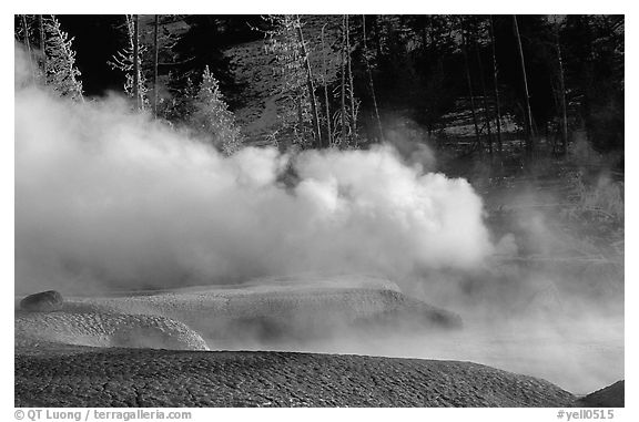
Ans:
[[[453,312],[402,294],[368,276],[300,276],[239,286],[69,298],[64,310],[151,315],[181,321],[207,341],[262,343],[329,337],[345,330],[459,328]]]

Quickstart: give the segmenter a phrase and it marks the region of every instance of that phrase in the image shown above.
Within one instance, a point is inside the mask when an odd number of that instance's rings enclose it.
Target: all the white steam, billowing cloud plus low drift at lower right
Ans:
[[[622,265],[620,276],[608,267],[589,275],[485,265],[494,251],[528,247],[552,256],[574,240],[548,229],[547,214],[519,213],[515,226],[524,235],[508,227],[515,235],[503,234],[494,247],[479,196],[464,179],[425,173],[434,159],[428,150],[392,136],[394,147],[371,151],[245,148],[223,157],[129,112],[120,99],[72,103],[32,86],[20,54],[18,295],[376,274],[459,312],[464,332],[343,337],[288,349],[473,360],[574,392],[622,377]],[[615,285],[602,296],[610,279],[621,280],[620,291]]]

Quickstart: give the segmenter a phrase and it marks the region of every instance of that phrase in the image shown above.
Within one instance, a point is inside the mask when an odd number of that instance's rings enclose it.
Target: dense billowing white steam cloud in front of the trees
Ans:
[[[491,251],[470,185],[390,146],[224,157],[121,100],[58,99],[27,83],[18,50],[16,60],[19,290],[301,271],[400,280]]]

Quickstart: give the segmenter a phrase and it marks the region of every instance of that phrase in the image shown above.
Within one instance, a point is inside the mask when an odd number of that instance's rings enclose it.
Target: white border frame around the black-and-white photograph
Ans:
[[[558,2],[550,0],[536,0],[534,2],[518,2],[518,1],[455,1],[455,2],[436,2],[436,1],[410,1],[410,0],[394,0],[390,2],[367,2],[358,1],[337,1],[325,0],[320,1],[317,4],[310,4],[308,2],[300,1],[145,1],[135,2],[124,0],[110,0],[108,2],[99,2],[99,9],[95,8],[98,2],[85,1],[79,3],[77,1],[51,1],[36,0],[29,2],[3,2],[1,17],[3,18],[3,25],[6,32],[13,30],[13,14],[17,13],[92,13],[92,14],[109,14],[109,13],[277,13],[277,12],[295,12],[295,13],[620,13],[626,14],[626,74],[630,78],[626,81],[627,99],[637,99],[637,24],[635,8],[631,7],[630,1],[579,1],[579,2]],[[8,9],[8,10],[4,10]],[[2,50],[4,55],[10,58],[10,63],[0,66],[2,71],[2,132],[3,136],[0,137],[2,163],[0,165],[0,186],[2,193],[2,212],[1,218],[1,263],[2,269],[2,288],[4,300],[2,309],[2,325],[3,331],[2,339],[2,383],[1,383],[1,411],[0,415],[3,420],[13,420],[13,350],[12,350],[12,325],[9,321],[13,319],[13,38],[12,34],[4,33],[0,37]],[[627,104],[628,105],[628,104]],[[632,398],[639,397],[639,391],[636,382],[637,364],[632,357],[639,357],[637,350],[637,341],[633,332],[636,332],[637,315],[637,284],[639,277],[637,272],[637,220],[633,216],[638,215],[637,209],[637,164],[639,159],[637,147],[637,126],[633,124],[635,110],[626,107],[626,156],[630,158],[630,165],[626,172],[627,189],[626,189],[626,237],[627,250],[626,256],[630,257],[626,266],[626,395],[629,398],[626,402],[626,409],[616,410],[615,421],[625,420],[639,420],[637,415],[637,403]],[[636,119],[636,117],[635,117]],[[11,301],[11,306],[9,306]],[[605,364],[605,362],[602,362]],[[258,409],[248,410],[222,410],[222,409],[193,409],[194,421],[209,421],[219,418],[260,418],[261,421],[277,421],[295,420],[301,416],[311,420],[324,420],[325,418],[332,419],[397,419],[402,420],[491,420],[491,421],[558,421],[557,410],[554,409],[359,409],[359,410],[345,410],[345,409],[326,409],[326,410],[268,410],[263,411]],[[11,413],[9,413],[11,412]],[[257,413],[258,412],[258,413]],[[301,413],[304,412],[304,413]],[[392,413],[390,413],[392,412]]]

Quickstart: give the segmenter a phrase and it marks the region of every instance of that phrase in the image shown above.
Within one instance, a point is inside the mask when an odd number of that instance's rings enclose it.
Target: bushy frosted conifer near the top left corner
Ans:
[[[60,28],[54,16],[43,21],[45,33],[47,84],[61,96],[83,100],[80,71],[75,66],[73,38]]]

